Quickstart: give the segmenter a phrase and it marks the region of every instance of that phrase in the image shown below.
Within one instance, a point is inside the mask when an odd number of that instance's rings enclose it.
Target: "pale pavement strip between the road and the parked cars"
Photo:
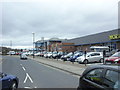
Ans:
[[[72,73],[73,75],[81,76],[83,71],[90,65],[85,66],[84,64],[78,64],[77,62],[72,63],[69,61],[62,61],[61,59],[48,59],[44,57],[38,57],[35,58],[29,57],[30,59],[33,59],[41,64]]]

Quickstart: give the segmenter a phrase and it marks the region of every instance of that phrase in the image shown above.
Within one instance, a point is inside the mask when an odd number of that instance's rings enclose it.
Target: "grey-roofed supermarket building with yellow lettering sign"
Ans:
[[[82,51],[90,51],[91,46],[108,46],[109,51],[120,50],[120,29],[69,39],[66,42],[74,43],[76,50]]]

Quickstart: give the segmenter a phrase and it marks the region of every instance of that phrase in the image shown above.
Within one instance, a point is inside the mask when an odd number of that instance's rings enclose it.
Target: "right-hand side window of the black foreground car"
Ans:
[[[112,70],[107,70],[104,79],[104,86],[108,88],[120,88],[120,73]]]

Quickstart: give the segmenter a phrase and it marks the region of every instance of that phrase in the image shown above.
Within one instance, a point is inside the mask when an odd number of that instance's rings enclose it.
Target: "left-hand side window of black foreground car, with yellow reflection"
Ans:
[[[94,69],[90,71],[85,78],[95,82],[97,84],[102,84],[102,79],[101,79],[101,74],[102,74],[103,69]]]

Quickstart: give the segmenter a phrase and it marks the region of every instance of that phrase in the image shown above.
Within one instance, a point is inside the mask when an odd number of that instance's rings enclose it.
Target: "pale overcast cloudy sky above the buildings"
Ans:
[[[2,0],[0,44],[31,48],[41,37],[72,39],[118,28],[119,0]]]

